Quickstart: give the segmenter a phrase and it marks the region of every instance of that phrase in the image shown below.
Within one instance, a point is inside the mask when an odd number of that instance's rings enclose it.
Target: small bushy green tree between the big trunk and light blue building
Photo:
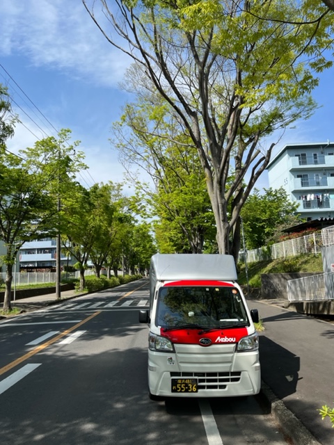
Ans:
[[[291,202],[283,187],[264,188],[264,193],[255,188],[241,212],[245,241],[248,249],[262,248],[273,238],[277,228],[299,224],[296,216],[299,204]]]

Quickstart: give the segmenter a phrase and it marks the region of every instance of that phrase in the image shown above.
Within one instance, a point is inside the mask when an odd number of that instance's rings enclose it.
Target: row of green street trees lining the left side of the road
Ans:
[[[10,311],[13,266],[28,241],[61,234],[62,248],[76,260],[80,286],[92,261],[97,276],[102,266],[125,270],[148,268],[155,252],[146,223],[139,224],[132,201],[122,184],[94,184],[84,188],[77,180],[87,168],[84,153],[70,142],[68,129],[38,140],[33,147],[13,154],[6,140],[13,136],[17,118],[11,118],[10,98],[0,86],[0,241],[6,254],[3,310]]]

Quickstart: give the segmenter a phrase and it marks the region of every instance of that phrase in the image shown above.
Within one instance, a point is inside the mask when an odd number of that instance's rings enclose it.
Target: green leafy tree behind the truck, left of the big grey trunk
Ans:
[[[128,74],[127,88],[135,82]],[[143,93],[138,102],[127,105],[113,126],[116,147],[126,168],[138,165],[152,179],[154,188],[128,175],[136,186],[141,215],[154,218],[159,252],[200,253],[207,238],[214,238],[205,175],[191,140],[163,121],[166,107],[160,102],[157,95]]]

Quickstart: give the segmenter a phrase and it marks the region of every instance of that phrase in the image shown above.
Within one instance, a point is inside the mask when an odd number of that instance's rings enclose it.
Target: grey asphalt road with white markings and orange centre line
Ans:
[[[1,445],[286,444],[258,398],[148,398],[148,280],[0,322]]]

